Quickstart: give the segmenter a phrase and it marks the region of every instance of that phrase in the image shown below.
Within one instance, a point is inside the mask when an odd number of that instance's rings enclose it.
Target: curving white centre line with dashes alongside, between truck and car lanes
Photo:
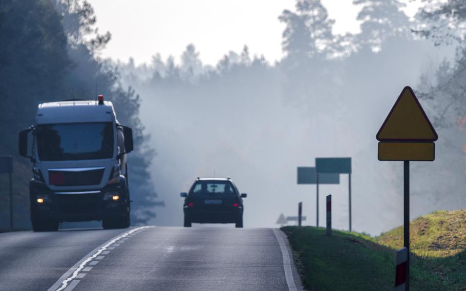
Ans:
[[[137,227],[137,228],[134,228],[134,230],[131,230],[129,232],[125,232],[123,233],[122,235],[119,235],[119,236],[116,236],[114,238],[112,238],[111,240],[107,241],[107,242],[104,242],[103,244],[99,245],[98,247],[94,248],[94,250],[92,250],[89,254],[87,254],[84,258],[80,259],[76,264],[74,264],[74,266],[72,266],[65,274],[63,274],[60,279],[58,279],[58,281],[55,282],[55,284],[52,285],[52,287],[50,287],[47,291],[69,291],[68,290],[68,287],[71,286],[71,284],[74,282],[74,281],[78,281],[77,283],[79,283],[79,280],[73,280],[74,278],[76,278],[76,276],[78,275],[78,273],[84,268],[84,266],[89,263],[90,261],[92,261],[95,257],[99,256],[103,251],[105,250],[113,250],[113,248],[111,248],[110,245],[114,245],[114,246],[117,246],[115,244],[115,242],[123,237],[126,237],[130,234],[133,234],[137,231],[140,231],[140,230],[144,230],[145,228],[150,228],[150,227],[154,227],[154,226],[141,226],[141,227]],[[71,282],[71,283],[70,283]],[[75,283],[75,284],[77,284]],[[68,285],[70,284],[70,285]],[[68,286],[68,287],[67,287]],[[75,285],[76,286],[76,285]],[[73,287],[74,288],[74,287]]]

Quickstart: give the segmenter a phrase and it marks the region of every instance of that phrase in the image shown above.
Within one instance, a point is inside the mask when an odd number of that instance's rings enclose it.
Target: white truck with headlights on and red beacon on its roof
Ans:
[[[130,226],[126,154],[131,128],[119,124],[113,104],[41,103],[35,123],[19,133],[19,154],[33,163],[29,183],[34,231],[56,231],[62,221],[102,221]]]

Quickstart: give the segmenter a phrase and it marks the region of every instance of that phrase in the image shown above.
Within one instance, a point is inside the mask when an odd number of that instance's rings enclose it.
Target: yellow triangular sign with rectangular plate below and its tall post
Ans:
[[[403,161],[404,168],[404,248],[406,252],[406,282],[396,285],[396,290],[409,290],[409,162],[433,161],[435,143],[438,135],[432,123],[422,109],[411,87],[401,91],[395,105],[390,110],[382,127],[376,135],[378,143],[378,160]],[[401,255],[400,255],[401,256]],[[397,262],[398,264],[398,262]],[[398,266],[395,284],[398,283]]]

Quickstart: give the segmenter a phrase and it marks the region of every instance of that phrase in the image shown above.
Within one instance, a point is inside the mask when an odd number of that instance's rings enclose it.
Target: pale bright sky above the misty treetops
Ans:
[[[101,31],[110,31],[112,41],[103,57],[137,64],[149,62],[159,52],[163,58],[179,59],[193,43],[204,64],[215,65],[229,50],[241,51],[247,44],[251,54],[263,54],[271,62],[282,57],[284,25],[277,17],[283,9],[294,9],[294,0],[90,0]],[[408,3],[408,0],[406,0]],[[110,4],[111,3],[111,4]],[[359,7],[352,0],[322,0],[336,20],[334,32],[358,32]],[[407,13],[417,3],[408,3]]]

